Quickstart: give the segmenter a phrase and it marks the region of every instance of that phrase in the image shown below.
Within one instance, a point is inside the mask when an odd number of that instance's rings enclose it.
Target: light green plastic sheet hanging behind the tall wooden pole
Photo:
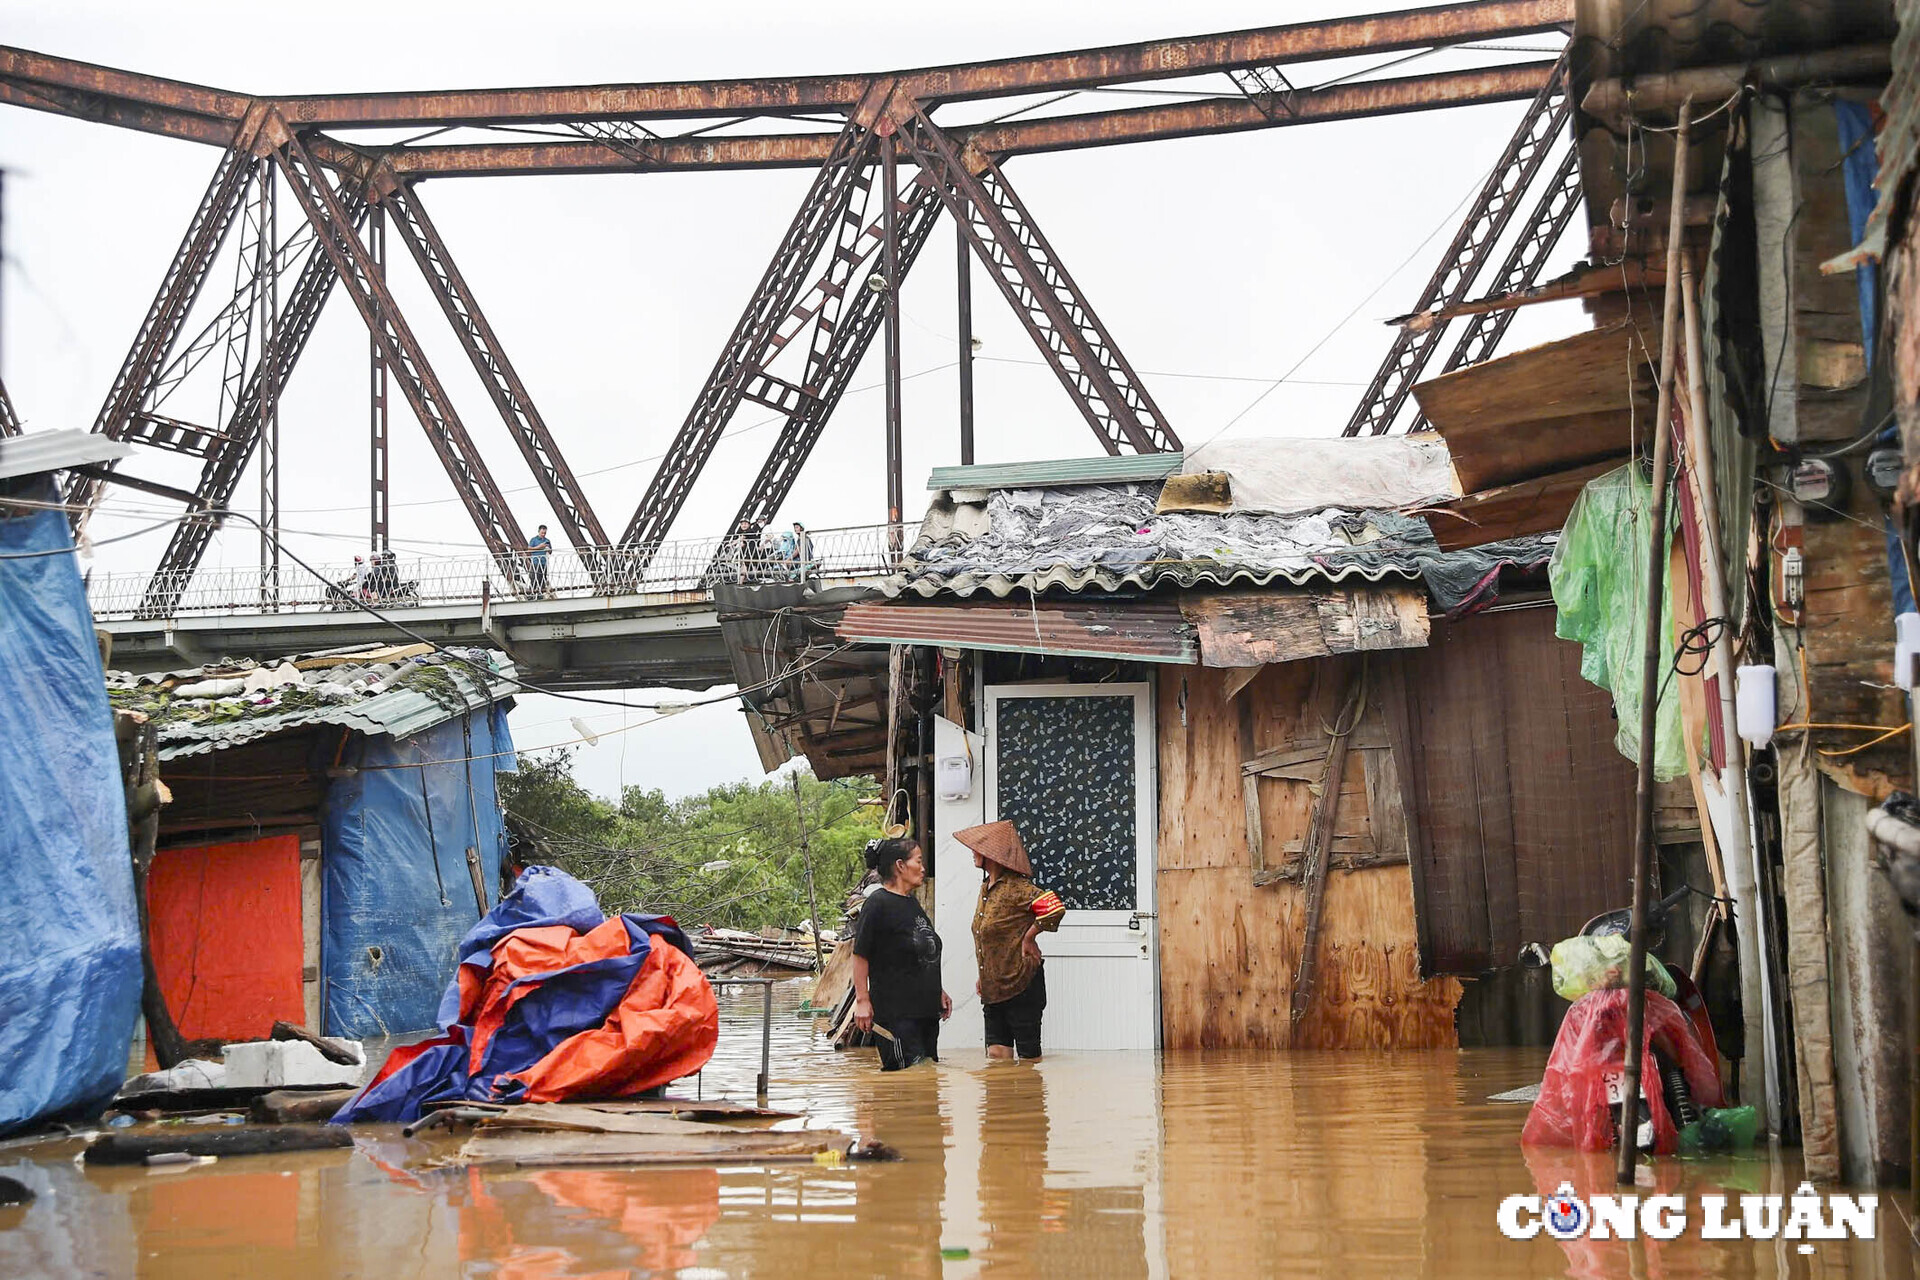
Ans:
[[[1553,633],[1578,641],[1580,676],[1613,695],[1620,727],[1613,745],[1628,760],[1640,758],[1640,670],[1647,610],[1647,526],[1651,486],[1638,466],[1619,466],[1588,482],[1567,514],[1567,528],[1553,547],[1548,581],[1559,618]],[[1667,509],[1667,545],[1672,547],[1672,505]],[[1674,651],[1672,566],[1667,557],[1661,595],[1661,652]],[[1667,670],[1667,662],[1661,664]],[[1680,729],[1680,691],[1663,679],[1653,720],[1653,777],[1668,781],[1686,773]]]

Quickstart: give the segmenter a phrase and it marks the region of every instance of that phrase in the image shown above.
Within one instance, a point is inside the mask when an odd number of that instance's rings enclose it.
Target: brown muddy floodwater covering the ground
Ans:
[[[1910,1276],[1887,1197],[1876,1242],[1509,1242],[1509,1194],[1611,1192],[1599,1155],[1523,1153],[1544,1052],[977,1052],[881,1075],[793,1017],[772,1100],[858,1130],[893,1165],[422,1169],[447,1150],[369,1130],[355,1151],[186,1171],[84,1169],[77,1142],[0,1150],[40,1192],[0,1209],[0,1276]],[[751,1098],[758,994],[722,994],[701,1088]],[[676,1090],[678,1092],[678,1090]],[[1791,1194],[1791,1153],[1661,1161],[1661,1192]],[[1695,1201],[1690,1201],[1695,1203]],[[1699,1215],[1697,1205],[1692,1213]],[[1738,1211],[1736,1211],[1738,1213]]]

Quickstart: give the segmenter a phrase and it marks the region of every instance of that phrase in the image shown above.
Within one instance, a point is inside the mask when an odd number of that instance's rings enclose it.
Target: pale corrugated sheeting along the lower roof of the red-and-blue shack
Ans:
[[[488,658],[497,674],[493,679],[482,679],[465,664],[442,660],[417,664],[415,668],[434,672],[434,676],[413,679],[401,676],[399,687],[388,687],[382,693],[357,700],[321,706],[301,704],[292,710],[265,708],[225,720],[167,722],[161,718],[157,727],[159,758],[179,760],[180,756],[225,750],[317,723],[342,725],[359,733],[413,737],[455,716],[503,702],[518,691],[507,679],[515,676],[513,662],[495,658],[484,651],[472,652]]]

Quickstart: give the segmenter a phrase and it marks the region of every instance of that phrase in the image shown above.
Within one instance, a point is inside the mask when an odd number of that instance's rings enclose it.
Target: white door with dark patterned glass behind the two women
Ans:
[[[987,821],[1068,904],[1046,956],[1048,1050],[1160,1046],[1152,685],[989,685]]]

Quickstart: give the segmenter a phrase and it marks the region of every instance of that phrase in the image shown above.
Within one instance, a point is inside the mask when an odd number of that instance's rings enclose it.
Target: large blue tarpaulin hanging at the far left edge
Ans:
[[[46,484],[36,499],[52,501]],[[67,518],[0,518],[0,1134],[104,1105],[140,1013],[113,714]]]

